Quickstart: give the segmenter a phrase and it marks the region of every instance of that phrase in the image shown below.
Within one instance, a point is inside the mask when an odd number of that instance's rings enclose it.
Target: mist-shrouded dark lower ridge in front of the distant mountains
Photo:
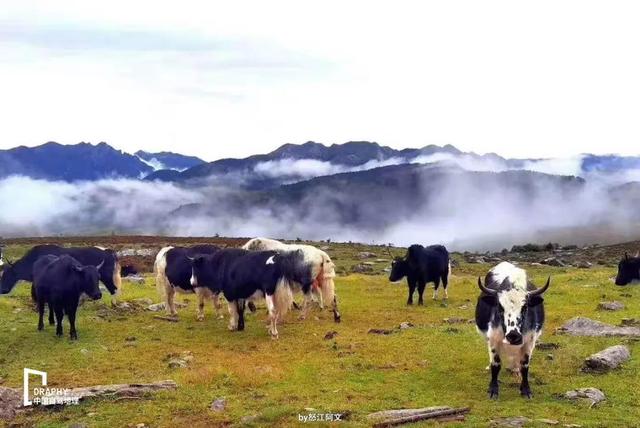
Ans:
[[[389,166],[260,192],[10,177],[0,180],[0,236],[220,234],[444,243],[454,250],[604,243],[640,235],[640,210],[628,196],[637,189],[612,190],[606,180],[526,171],[471,172],[448,164]]]

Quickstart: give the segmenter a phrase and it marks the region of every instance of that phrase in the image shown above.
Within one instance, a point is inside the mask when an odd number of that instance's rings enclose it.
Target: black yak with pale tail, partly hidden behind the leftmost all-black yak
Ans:
[[[33,265],[42,256],[73,257],[83,266],[100,265],[100,281],[109,293],[115,296],[121,288],[120,263],[115,251],[99,247],[59,247],[57,245],[36,245],[14,263],[7,260],[8,267],[0,278],[0,294],[9,293],[20,280],[33,282]],[[112,298],[115,302],[115,297]]]

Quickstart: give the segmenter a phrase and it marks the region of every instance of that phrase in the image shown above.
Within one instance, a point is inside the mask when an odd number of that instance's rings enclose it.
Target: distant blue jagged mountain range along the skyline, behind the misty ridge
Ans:
[[[622,175],[620,183],[635,181],[636,177],[640,180],[640,157],[584,154],[572,159],[509,159],[494,153],[462,152],[452,145],[397,150],[368,141],[330,146],[311,141],[285,144],[267,154],[213,162],[172,152],[130,154],[104,142],[48,142],[0,150],[0,178],[19,175],[67,182],[130,178],[261,190],[320,176],[411,163],[449,164],[472,171],[531,170],[583,178]]]

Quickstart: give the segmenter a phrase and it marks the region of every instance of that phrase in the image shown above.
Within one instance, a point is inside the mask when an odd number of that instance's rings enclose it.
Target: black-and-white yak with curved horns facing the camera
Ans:
[[[503,359],[512,370],[520,370],[520,394],[531,398],[529,362],[542,334],[544,303],[542,294],[549,288],[536,289],[527,273],[508,262],[502,262],[487,273],[485,285],[478,277],[482,293],[476,305],[476,326],[489,347],[491,382],[489,398],[498,398],[498,374]]]

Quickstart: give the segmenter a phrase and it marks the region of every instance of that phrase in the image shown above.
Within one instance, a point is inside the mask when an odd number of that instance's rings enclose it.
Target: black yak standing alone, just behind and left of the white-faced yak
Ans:
[[[400,281],[407,277],[409,286],[409,298],[407,305],[413,304],[413,293],[418,289],[418,304],[423,305],[422,294],[428,282],[433,282],[433,299],[438,297],[438,287],[440,281],[444,287],[444,298],[449,298],[447,286],[449,284],[449,274],[451,273],[451,263],[449,262],[449,252],[442,245],[430,245],[423,247],[413,244],[407,249],[404,258],[396,257],[391,262],[391,272],[389,281]]]

